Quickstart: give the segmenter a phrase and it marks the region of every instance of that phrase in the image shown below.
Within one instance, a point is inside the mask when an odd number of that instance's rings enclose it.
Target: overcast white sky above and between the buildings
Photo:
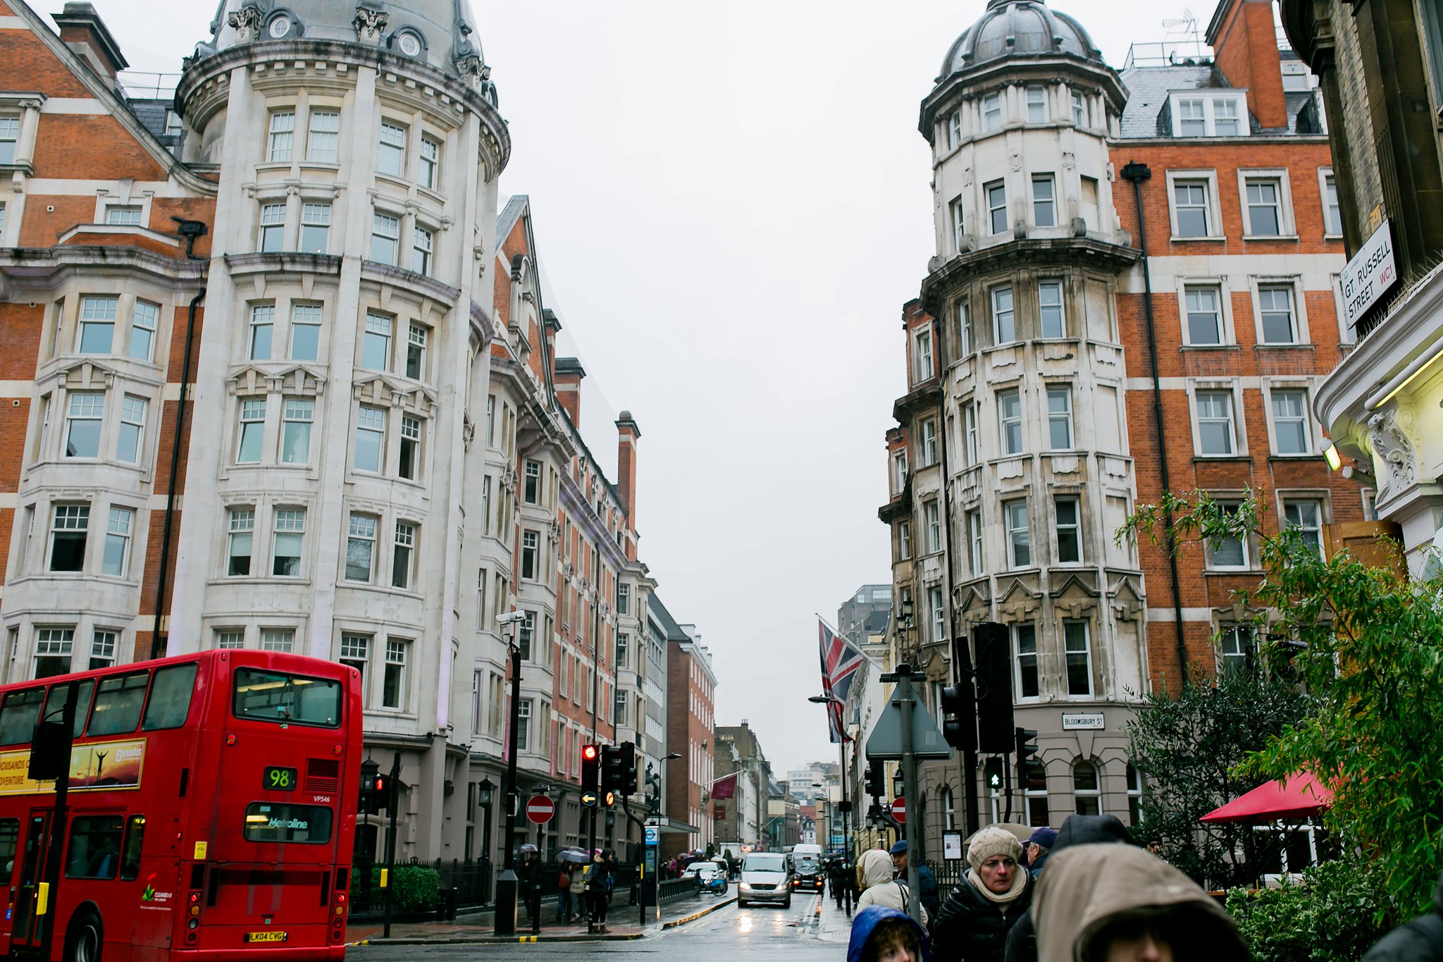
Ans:
[[[30,0],[35,3],[35,0]],[[338,0],[339,1],[339,0]],[[179,71],[214,0],[92,0]],[[1214,3],[1193,0],[1205,30]],[[61,0],[38,7],[49,12]],[[773,769],[834,760],[817,619],[890,581],[883,434],[932,254],[918,105],[984,0],[472,0],[553,307],[615,459],[641,425],[642,558]],[[1052,4],[1121,68],[1177,0]]]

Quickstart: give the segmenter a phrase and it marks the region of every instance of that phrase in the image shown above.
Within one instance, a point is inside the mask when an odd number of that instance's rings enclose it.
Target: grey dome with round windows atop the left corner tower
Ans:
[[[466,0],[221,0],[209,46],[310,37],[355,42],[362,32],[400,56],[457,72],[481,59]]]

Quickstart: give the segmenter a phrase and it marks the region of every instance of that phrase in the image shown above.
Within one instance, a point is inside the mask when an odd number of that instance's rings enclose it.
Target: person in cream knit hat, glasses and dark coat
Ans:
[[[1022,842],[1003,828],[973,835],[971,870],[932,922],[938,962],[1001,962],[1007,930],[1032,904],[1032,877],[1017,864],[1020,858]]]

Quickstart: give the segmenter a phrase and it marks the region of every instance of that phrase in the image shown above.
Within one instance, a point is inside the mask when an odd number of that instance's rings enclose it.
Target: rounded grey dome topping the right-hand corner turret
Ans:
[[[1043,0],[988,0],[987,12],[957,37],[938,79],[1012,56],[1075,56],[1102,63],[1082,25]]]

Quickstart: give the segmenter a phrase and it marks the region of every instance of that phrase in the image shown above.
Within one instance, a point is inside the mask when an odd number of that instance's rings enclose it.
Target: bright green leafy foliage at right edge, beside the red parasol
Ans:
[[[1443,867],[1443,586],[1348,551],[1323,560],[1296,531],[1261,529],[1250,492],[1224,509],[1203,493],[1139,508],[1121,535],[1173,544],[1250,538],[1263,580],[1235,593],[1260,656],[1310,698],[1237,767],[1242,777],[1312,772],[1333,790],[1325,815],[1345,845],[1378,862],[1403,914],[1427,910]]]

